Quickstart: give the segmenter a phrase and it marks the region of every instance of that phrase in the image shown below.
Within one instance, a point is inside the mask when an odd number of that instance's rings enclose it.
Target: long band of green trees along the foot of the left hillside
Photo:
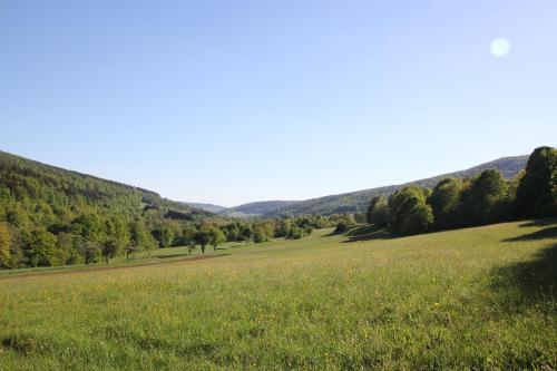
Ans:
[[[197,246],[203,253],[207,246],[216,252],[224,242],[263,243],[275,237],[302,238],[314,228],[336,224],[335,217],[307,215],[295,218],[271,218],[246,222],[203,219],[198,223],[158,221],[148,228],[138,216],[126,223],[119,214],[100,217],[82,214],[61,231],[52,227],[17,228],[0,221],[0,266],[55,266],[80,263],[106,263],[110,258],[133,256],[139,251],[170,246],[187,246],[192,253]]]

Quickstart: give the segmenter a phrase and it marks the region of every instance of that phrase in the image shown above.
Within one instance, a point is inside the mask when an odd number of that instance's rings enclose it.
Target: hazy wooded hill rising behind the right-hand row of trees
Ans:
[[[276,215],[299,215],[299,214],[323,214],[364,211],[371,197],[378,195],[388,196],[393,192],[408,186],[420,185],[423,187],[433,187],[440,179],[446,177],[466,178],[476,175],[485,169],[498,169],[507,179],[512,178],[522,168],[526,167],[528,156],[504,157],[490,163],[481,164],[466,170],[438,175],[431,178],[409,182],[400,185],[391,185],[379,188],[371,188],[358,192],[351,192],[340,195],[324,196],[293,203],[280,209],[267,213],[268,216]]]

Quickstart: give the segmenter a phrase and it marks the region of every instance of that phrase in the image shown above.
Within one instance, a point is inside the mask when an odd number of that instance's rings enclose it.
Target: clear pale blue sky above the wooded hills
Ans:
[[[0,149],[179,201],[304,199],[555,145],[556,66],[553,0],[3,0]]]

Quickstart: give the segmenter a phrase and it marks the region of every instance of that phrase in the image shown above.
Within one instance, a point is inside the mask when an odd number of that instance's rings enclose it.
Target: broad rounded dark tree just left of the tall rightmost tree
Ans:
[[[460,196],[465,225],[509,219],[508,185],[497,170],[485,170],[465,183]]]

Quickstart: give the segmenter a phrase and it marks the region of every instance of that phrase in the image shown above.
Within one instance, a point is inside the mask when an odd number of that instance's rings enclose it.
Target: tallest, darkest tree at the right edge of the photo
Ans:
[[[525,217],[557,215],[557,149],[539,147],[526,165],[516,195],[516,212]]]

